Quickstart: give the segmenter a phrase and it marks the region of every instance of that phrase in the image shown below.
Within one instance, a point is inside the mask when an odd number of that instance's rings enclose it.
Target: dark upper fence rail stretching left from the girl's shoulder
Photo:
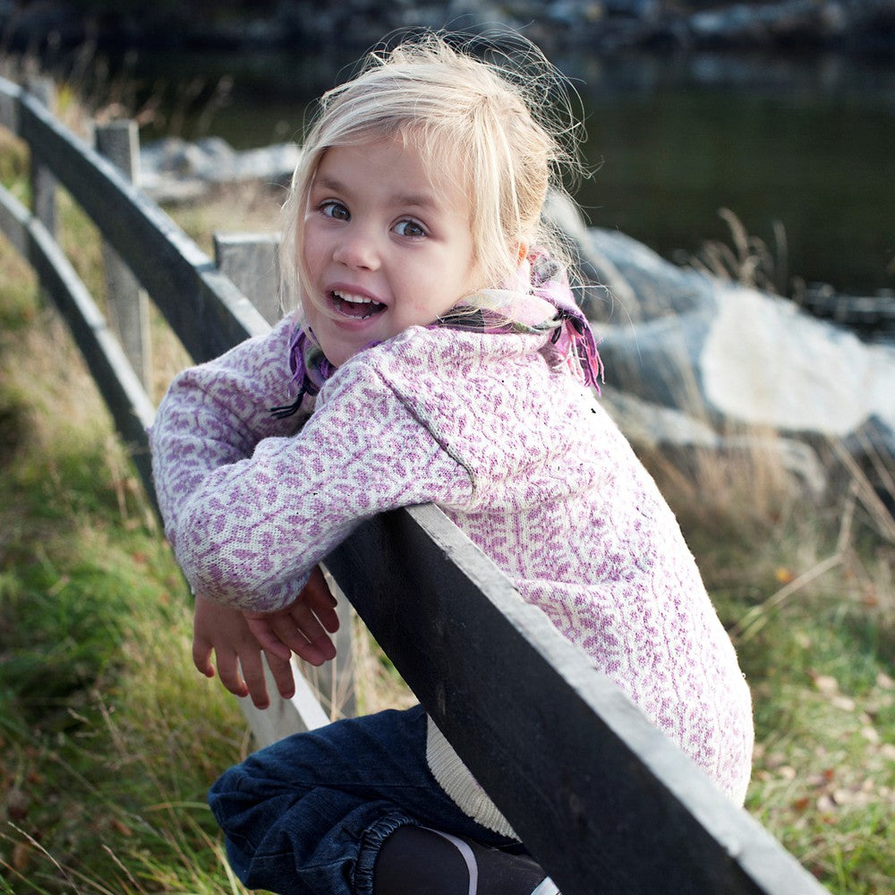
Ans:
[[[19,134],[127,262],[196,361],[269,329],[199,246],[114,165],[33,98],[21,96]]]

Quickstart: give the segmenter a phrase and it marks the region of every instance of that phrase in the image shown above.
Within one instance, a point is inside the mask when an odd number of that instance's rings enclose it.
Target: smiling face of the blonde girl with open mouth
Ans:
[[[471,204],[453,173],[429,171],[399,138],[320,159],[304,219],[313,295],[303,309],[329,362],[430,324],[473,291]]]

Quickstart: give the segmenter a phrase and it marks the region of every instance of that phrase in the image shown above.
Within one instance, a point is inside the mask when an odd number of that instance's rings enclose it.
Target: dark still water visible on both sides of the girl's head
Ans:
[[[134,98],[157,128],[238,148],[292,139],[354,55],[141,55]],[[784,282],[895,288],[895,61],[846,55],[554,56],[587,116],[577,198],[669,258],[730,242],[720,208],[771,246]],[[138,95],[139,94],[139,95]],[[788,250],[775,248],[774,222]]]

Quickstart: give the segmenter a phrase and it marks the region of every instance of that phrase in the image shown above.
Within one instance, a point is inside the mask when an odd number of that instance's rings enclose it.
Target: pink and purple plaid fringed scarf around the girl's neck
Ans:
[[[561,266],[546,252],[534,251],[524,260],[516,283],[471,295],[427,328],[483,334],[551,333],[553,351],[569,371],[600,391],[603,365],[590,323],[575,304]],[[362,350],[379,344],[371,342]],[[311,329],[302,325],[295,327],[289,342],[289,368],[292,381],[299,383],[298,396],[292,404],[270,408],[277,419],[296,413],[304,396],[317,395],[337,369],[323,354]]]

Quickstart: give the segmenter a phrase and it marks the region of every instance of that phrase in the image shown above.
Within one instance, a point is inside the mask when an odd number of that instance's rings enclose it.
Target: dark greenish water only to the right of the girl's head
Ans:
[[[673,257],[729,242],[728,208],[771,247],[782,224],[787,278],[895,286],[895,68],[702,56],[578,70],[603,159],[578,195],[592,223]]]

